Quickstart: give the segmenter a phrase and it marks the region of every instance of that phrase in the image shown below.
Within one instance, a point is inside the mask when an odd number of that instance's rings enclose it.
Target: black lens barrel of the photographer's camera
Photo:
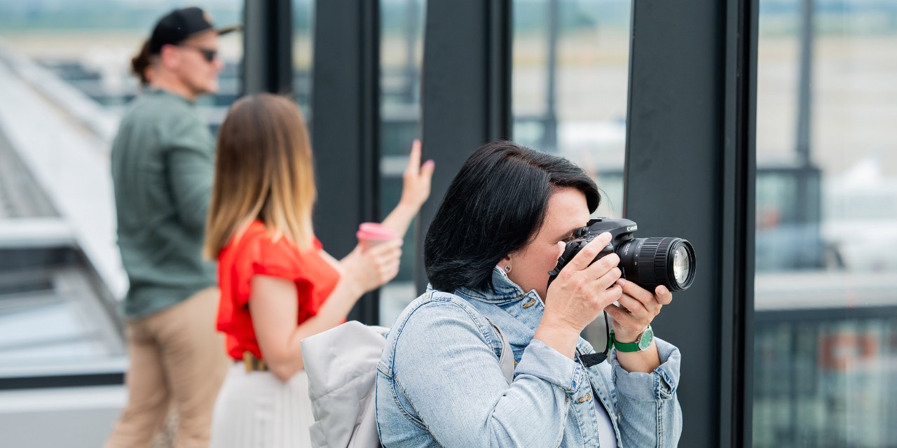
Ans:
[[[633,238],[617,246],[614,253],[620,257],[623,277],[644,289],[664,285],[682,291],[692,286],[694,248],[683,238]]]

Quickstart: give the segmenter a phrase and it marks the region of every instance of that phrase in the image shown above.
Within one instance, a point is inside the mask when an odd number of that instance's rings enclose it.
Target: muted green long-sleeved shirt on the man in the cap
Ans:
[[[214,147],[193,104],[164,90],[144,92],[122,117],[111,159],[130,280],[126,317],[175,306],[216,283],[214,264],[202,259]]]

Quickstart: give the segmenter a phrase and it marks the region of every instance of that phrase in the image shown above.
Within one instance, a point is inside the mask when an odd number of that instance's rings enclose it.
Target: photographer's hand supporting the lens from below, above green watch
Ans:
[[[651,293],[628,280],[620,279],[616,283],[623,289],[618,300],[620,305],[608,305],[605,311],[614,318],[614,339],[632,342],[660,314],[660,308],[673,301],[673,294],[663,285]]]

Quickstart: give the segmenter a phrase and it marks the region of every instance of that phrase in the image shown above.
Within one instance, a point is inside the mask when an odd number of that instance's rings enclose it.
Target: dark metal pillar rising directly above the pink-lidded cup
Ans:
[[[315,12],[315,232],[341,258],[355,246],[358,224],[379,216],[379,2],[327,0]],[[378,323],[377,292],[349,319]]]

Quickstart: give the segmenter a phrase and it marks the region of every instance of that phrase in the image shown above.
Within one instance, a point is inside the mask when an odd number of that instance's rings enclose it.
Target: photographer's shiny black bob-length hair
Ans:
[[[589,212],[597,209],[597,185],[570,160],[514,142],[481,146],[448,186],[424,239],[433,288],[492,289],[492,268],[536,237],[561,187],[576,188]]]

